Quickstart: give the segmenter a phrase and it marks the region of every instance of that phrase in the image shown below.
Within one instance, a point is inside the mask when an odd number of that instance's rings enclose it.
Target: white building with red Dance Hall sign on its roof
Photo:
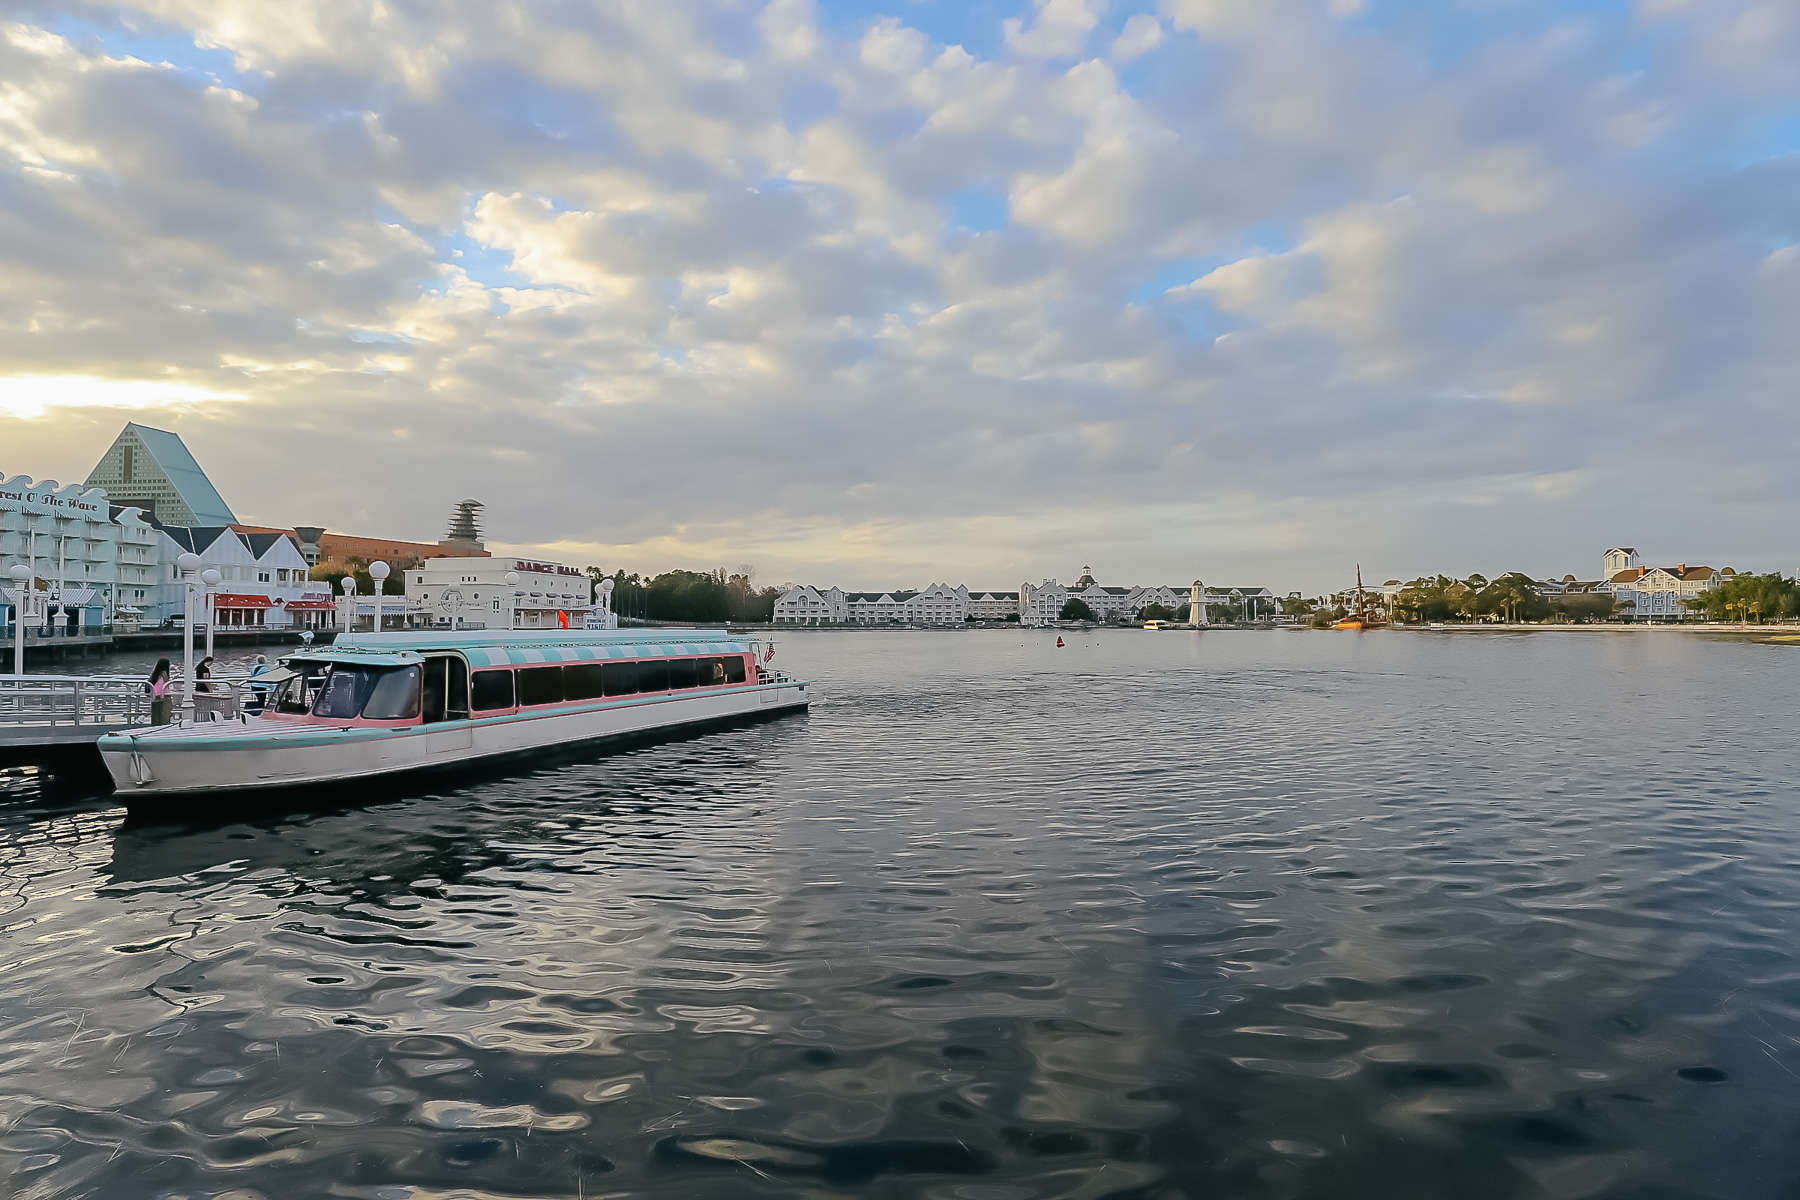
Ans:
[[[506,576],[518,576],[508,583]],[[592,601],[592,581],[574,567],[527,558],[430,558],[401,572],[405,601],[389,596],[383,604],[416,606],[430,624],[455,630],[556,630],[562,615],[571,628],[589,619],[616,628],[610,603]],[[603,601],[608,597],[603,594]],[[562,613],[562,615],[558,615]]]

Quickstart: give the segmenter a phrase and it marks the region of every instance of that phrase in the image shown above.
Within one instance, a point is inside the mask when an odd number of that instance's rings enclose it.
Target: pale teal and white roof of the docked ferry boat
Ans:
[[[297,651],[292,657],[405,666],[419,662],[430,649],[461,651],[472,667],[504,667],[670,655],[747,655],[752,646],[747,637],[725,630],[394,630],[342,633],[329,648]]]

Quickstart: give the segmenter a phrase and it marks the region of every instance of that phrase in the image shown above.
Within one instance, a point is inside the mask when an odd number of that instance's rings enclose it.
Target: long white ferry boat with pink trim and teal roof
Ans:
[[[256,676],[261,712],[106,734],[126,799],[290,788],[805,711],[718,630],[344,633]]]

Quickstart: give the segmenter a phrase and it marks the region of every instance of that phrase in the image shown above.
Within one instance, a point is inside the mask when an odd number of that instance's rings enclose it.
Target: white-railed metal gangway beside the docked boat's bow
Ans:
[[[236,720],[245,680],[214,675],[212,691],[182,705],[175,680],[175,712],[182,723]],[[151,707],[142,675],[0,675],[0,750],[92,745],[101,734],[149,727]]]

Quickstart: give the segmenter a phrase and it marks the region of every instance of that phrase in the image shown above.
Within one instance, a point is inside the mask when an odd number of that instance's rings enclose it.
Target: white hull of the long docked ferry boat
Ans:
[[[549,752],[612,738],[776,716],[808,705],[799,682],[616,700],[578,709],[409,729],[245,723],[184,725],[101,738],[101,761],[126,801],[292,788]]]

